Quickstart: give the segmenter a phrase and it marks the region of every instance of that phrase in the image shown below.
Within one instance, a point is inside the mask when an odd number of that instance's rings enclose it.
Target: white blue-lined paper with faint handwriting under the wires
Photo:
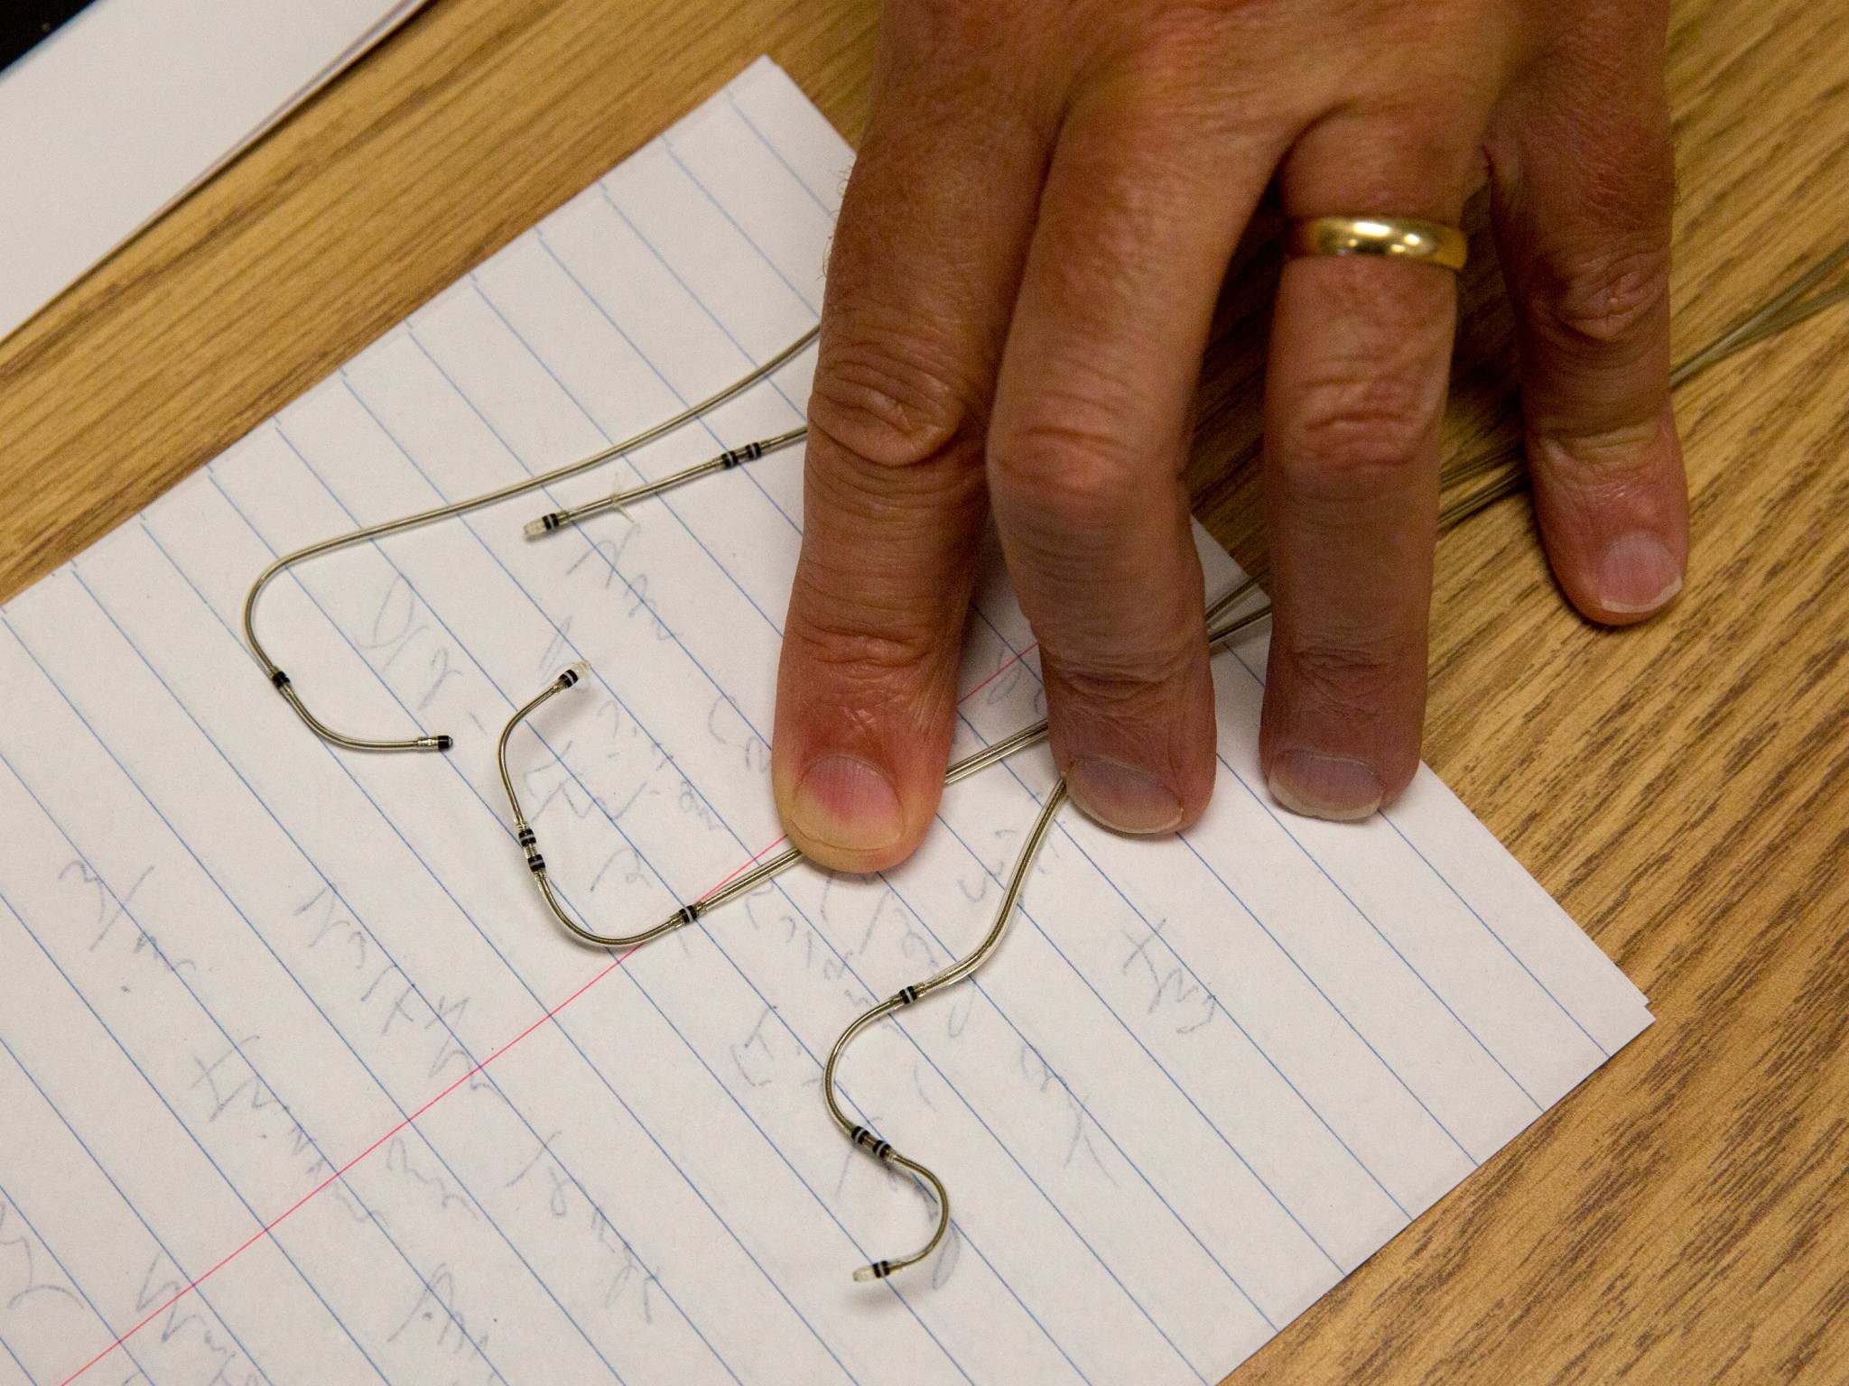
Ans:
[[[814,323],[847,144],[760,61],[0,612],[0,1384],[1215,1382],[1649,1024],[1429,772],[1359,826],[1257,772],[1132,843],[1061,813],[974,985],[821,1059],[987,928],[1052,778],[954,789],[880,878],[799,867],[632,955],[566,941],[771,848],[801,449],[542,543],[534,514],[791,427],[808,355],[608,471],[300,569],[276,553],[582,456]],[[1209,590],[1231,562],[1202,536]],[[1041,715],[998,565],[956,754]]]

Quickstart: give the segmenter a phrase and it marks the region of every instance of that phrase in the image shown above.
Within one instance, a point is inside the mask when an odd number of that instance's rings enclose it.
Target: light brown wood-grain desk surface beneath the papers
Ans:
[[[856,139],[871,0],[438,0],[0,346],[0,599],[100,538],[751,57]],[[1677,351],[1849,235],[1849,11],[1684,0]],[[1479,240],[1451,445],[1507,436]],[[1261,551],[1268,257],[1202,392],[1200,514]],[[1673,612],[1573,619],[1525,501],[1448,536],[1426,754],[1657,1026],[1235,1380],[1849,1380],[1849,309],[1677,401]],[[1026,1384],[1022,1384],[1026,1386]]]

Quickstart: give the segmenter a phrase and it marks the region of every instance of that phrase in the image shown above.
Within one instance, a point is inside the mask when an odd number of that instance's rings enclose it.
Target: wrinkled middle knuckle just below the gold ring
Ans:
[[[1298,473],[1376,473],[1411,468],[1431,440],[1431,386],[1402,371],[1339,371],[1296,395],[1283,462]]]

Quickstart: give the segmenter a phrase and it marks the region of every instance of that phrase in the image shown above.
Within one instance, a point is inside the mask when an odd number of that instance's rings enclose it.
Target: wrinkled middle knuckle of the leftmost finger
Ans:
[[[815,368],[810,427],[889,468],[943,451],[969,416],[969,392],[947,347],[873,327],[830,333]]]

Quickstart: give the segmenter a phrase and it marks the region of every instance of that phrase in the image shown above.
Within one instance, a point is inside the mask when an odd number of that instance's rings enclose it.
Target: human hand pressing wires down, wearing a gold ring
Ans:
[[[888,0],[828,266],[773,776],[791,839],[875,870],[937,806],[993,505],[1054,761],[1100,822],[1213,787],[1180,471],[1213,303],[1285,213],[1455,225],[1485,179],[1535,508],[1594,621],[1681,588],[1662,0]],[[1265,399],[1276,606],[1261,758],[1365,817],[1418,767],[1455,277],[1283,270]]]

